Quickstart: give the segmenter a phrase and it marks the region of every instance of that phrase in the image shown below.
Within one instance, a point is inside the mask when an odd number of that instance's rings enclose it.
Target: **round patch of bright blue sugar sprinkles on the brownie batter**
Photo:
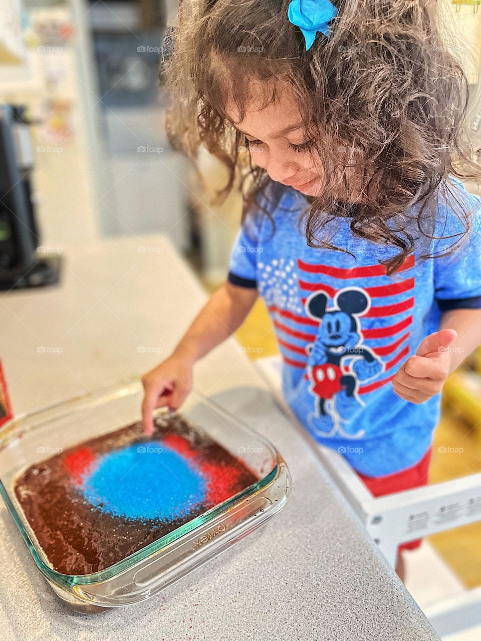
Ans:
[[[183,456],[149,441],[101,456],[81,490],[89,503],[115,516],[172,520],[203,502],[206,481]]]

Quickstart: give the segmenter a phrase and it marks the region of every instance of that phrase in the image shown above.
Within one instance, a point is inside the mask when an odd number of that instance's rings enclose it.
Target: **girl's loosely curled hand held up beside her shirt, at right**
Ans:
[[[394,392],[410,403],[424,403],[443,389],[451,373],[447,348],[457,337],[455,329],[441,329],[426,336],[414,356],[403,363],[392,379]]]

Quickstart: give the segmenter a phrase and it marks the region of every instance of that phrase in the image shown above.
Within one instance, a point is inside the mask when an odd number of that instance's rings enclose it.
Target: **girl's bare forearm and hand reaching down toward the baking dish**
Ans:
[[[257,289],[237,287],[226,281],[212,294],[187,329],[173,353],[142,376],[142,422],[153,431],[152,413],[168,405],[176,410],[192,388],[192,367],[241,326],[257,299]]]

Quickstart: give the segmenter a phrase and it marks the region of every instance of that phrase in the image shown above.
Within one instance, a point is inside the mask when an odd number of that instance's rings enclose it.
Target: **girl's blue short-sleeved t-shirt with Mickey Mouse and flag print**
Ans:
[[[350,217],[336,217],[322,233],[354,257],[308,246],[302,215],[308,204],[290,187],[282,187],[275,206],[271,198],[262,200],[274,229],[259,208],[233,247],[228,279],[257,288],[266,302],[287,404],[319,443],[367,476],[406,469],[426,453],[440,394],[410,403],[394,393],[391,380],[423,338],[439,329],[444,310],[481,308],[481,199],[459,187],[476,207],[469,238],[449,256],[421,260],[443,253],[464,232],[444,201],[430,235],[455,236],[420,235],[414,253],[391,276],[379,261],[399,249],[355,236]]]

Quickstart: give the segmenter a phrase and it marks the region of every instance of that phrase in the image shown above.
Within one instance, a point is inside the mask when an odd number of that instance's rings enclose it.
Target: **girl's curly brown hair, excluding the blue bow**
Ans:
[[[321,231],[357,203],[351,231],[400,249],[386,261],[392,273],[412,253],[418,231],[434,238],[439,199],[449,200],[462,221],[462,238],[471,230],[472,212],[450,179],[480,176],[463,133],[468,79],[441,37],[435,0],[334,4],[330,37],[317,33],[306,51],[300,29],[287,19],[289,0],[182,3],[162,71],[167,131],[192,160],[203,145],[226,165],[228,182],[218,196],[239,187],[245,217],[272,181],[246,153],[226,98],[243,119],[251,101],[267,106],[287,83],[322,176],[321,193],[308,199],[308,244],[346,251]],[[262,96],[253,95],[254,87]],[[353,171],[363,177],[361,190],[349,179]],[[340,188],[342,201],[333,196]]]

